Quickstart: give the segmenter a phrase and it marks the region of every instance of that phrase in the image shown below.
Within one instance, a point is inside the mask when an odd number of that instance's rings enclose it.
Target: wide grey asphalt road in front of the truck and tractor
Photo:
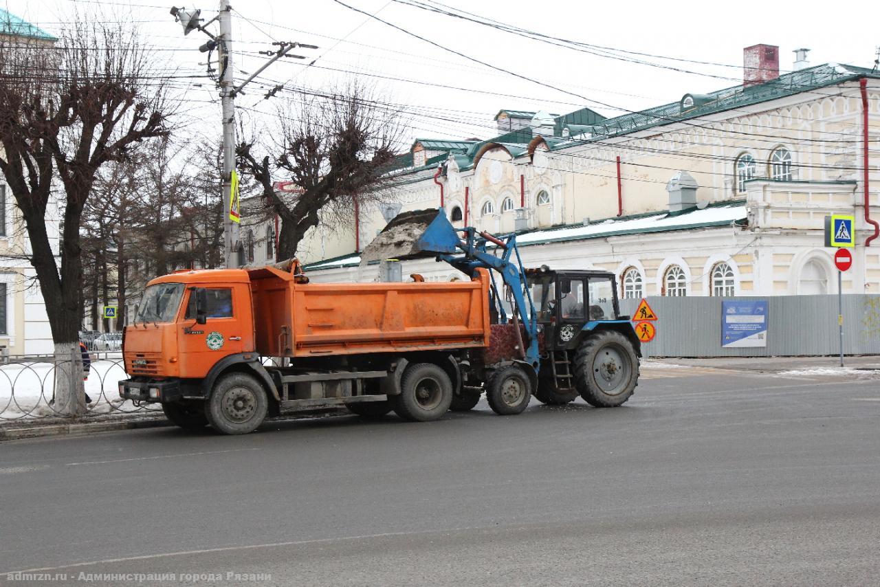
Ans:
[[[869,374],[661,366],[616,409],[0,444],[8,584],[876,585],[878,545]]]

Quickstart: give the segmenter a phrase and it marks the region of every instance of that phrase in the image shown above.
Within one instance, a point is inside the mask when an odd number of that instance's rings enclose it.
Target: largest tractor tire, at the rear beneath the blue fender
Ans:
[[[626,336],[605,330],[581,343],[575,355],[575,386],[590,406],[621,406],[636,385],[639,357]]]

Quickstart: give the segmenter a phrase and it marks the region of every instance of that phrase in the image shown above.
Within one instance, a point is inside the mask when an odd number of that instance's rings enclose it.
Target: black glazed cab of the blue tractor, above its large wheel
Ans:
[[[583,331],[620,316],[614,275],[583,269],[527,269],[535,319],[544,332],[545,349],[574,349]]]

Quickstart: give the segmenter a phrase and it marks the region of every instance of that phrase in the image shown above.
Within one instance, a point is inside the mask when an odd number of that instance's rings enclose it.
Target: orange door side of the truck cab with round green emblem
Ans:
[[[180,377],[202,378],[224,356],[253,349],[250,297],[244,284],[209,285],[206,324],[195,321],[195,289],[187,288],[180,323]]]

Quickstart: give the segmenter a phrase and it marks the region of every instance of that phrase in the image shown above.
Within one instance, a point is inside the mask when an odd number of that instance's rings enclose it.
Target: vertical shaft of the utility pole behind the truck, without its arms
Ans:
[[[223,110],[223,226],[226,267],[238,267],[238,222],[232,220],[232,173],[235,172],[235,78],[232,68],[232,10],[229,0],[220,0],[217,37],[220,56],[220,104]],[[238,212],[238,203],[236,203]]]

